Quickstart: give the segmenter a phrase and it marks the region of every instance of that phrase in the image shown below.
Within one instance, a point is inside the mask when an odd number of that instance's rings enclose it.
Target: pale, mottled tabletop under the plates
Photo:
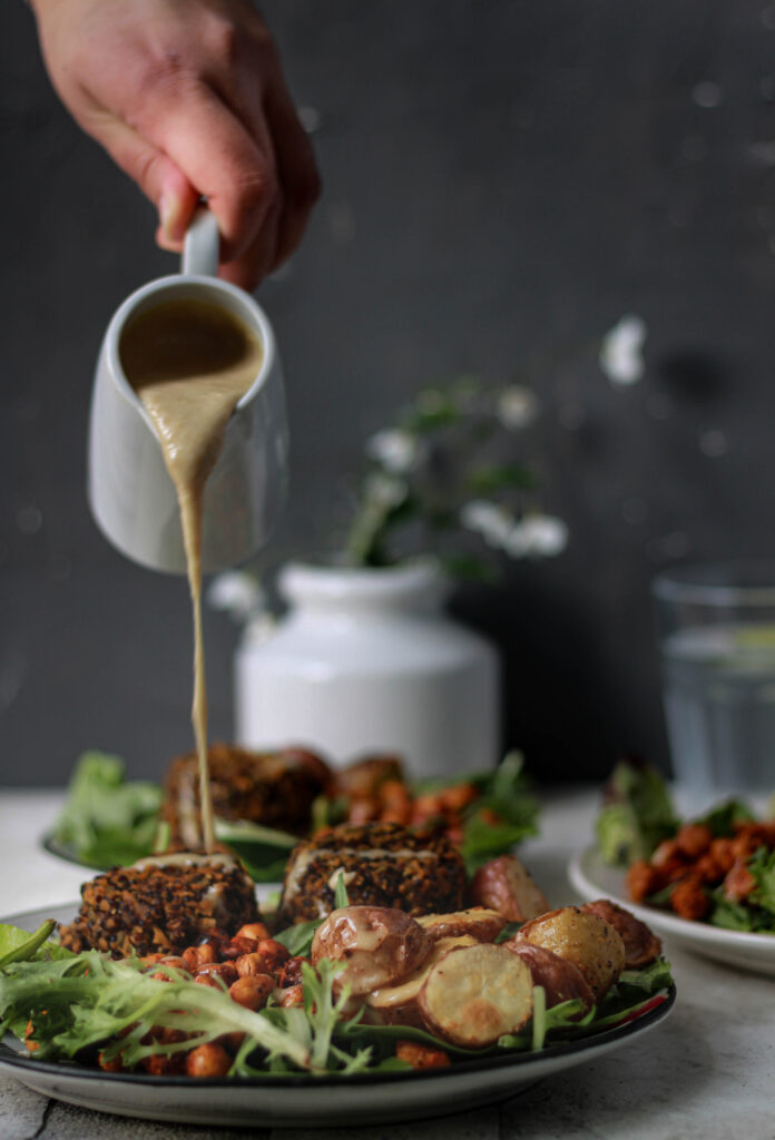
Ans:
[[[565,866],[590,838],[596,797],[545,797],[541,836],[522,856],[556,904],[574,902]],[[0,792],[0,914],[75,901],[84,872],[39,839],[57,791]],[[170,1127],[49,1101],[0,1076],[0,1140],[775,1140],[775,979],[716,966],[666,944],[678,987],[668,1020],[589,1065],[488,1109],[372,1129]]]

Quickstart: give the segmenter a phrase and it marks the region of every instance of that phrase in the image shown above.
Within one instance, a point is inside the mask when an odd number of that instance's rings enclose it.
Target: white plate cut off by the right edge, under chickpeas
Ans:
[[[627,897],[625,871],[609,866],[595,846],[571,858],[568,877],[585,898],[605,897],[620,903],[676,946],[727,966],[775,975],[775,935],[725,930],[678,918],[654,906],[638,906]]]

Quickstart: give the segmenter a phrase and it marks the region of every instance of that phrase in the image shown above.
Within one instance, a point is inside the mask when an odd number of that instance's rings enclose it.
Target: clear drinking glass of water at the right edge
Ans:
[[[674,776],[698,795],[775,789],[775,563],[653,583]]]

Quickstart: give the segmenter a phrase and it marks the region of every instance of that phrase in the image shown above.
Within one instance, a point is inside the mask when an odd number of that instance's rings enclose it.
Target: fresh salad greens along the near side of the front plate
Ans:
[[[103,1061],[120,1058],[127,1068],[230,1033],[244,1034],[229,1073],[235,1077],[409,1070],[395,1057],[399,1039],[443,1049],[452,1062],[504,1051],[529,1052],[631,1020],[666,1000],[671,985],[669,966],[662,960],[627,971],[580,1020],[580,1002],[547,1010],[544,991],[536,987],[533,1017],[522,1033],[501,1037],[491,1049],[471,1050],[422,1029],[367,1026],[358,1017],[345,1018],[348,995],[334,991],[333,962],[315,968],[303,963],[303,1005],[270,1004],[254,1012],[232,1001],[226,990],[197,985],[173,967],[156,968],[166,975],[162,980],[140,959],[114,961],[96,951],[72,954],[46,940],[51,928],[44,923],[31,936],[0,927],[0,1032],[26,1037],[35,1058],[93,1064],[99,1051]]]

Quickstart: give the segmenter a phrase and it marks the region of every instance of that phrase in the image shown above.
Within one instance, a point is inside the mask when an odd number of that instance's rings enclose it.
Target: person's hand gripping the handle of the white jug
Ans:
[[[179,251],[201,195],[220,276],[253,288],[319,194],[277,49],[250,0],[32,0],[51,82],[160,212]]]

